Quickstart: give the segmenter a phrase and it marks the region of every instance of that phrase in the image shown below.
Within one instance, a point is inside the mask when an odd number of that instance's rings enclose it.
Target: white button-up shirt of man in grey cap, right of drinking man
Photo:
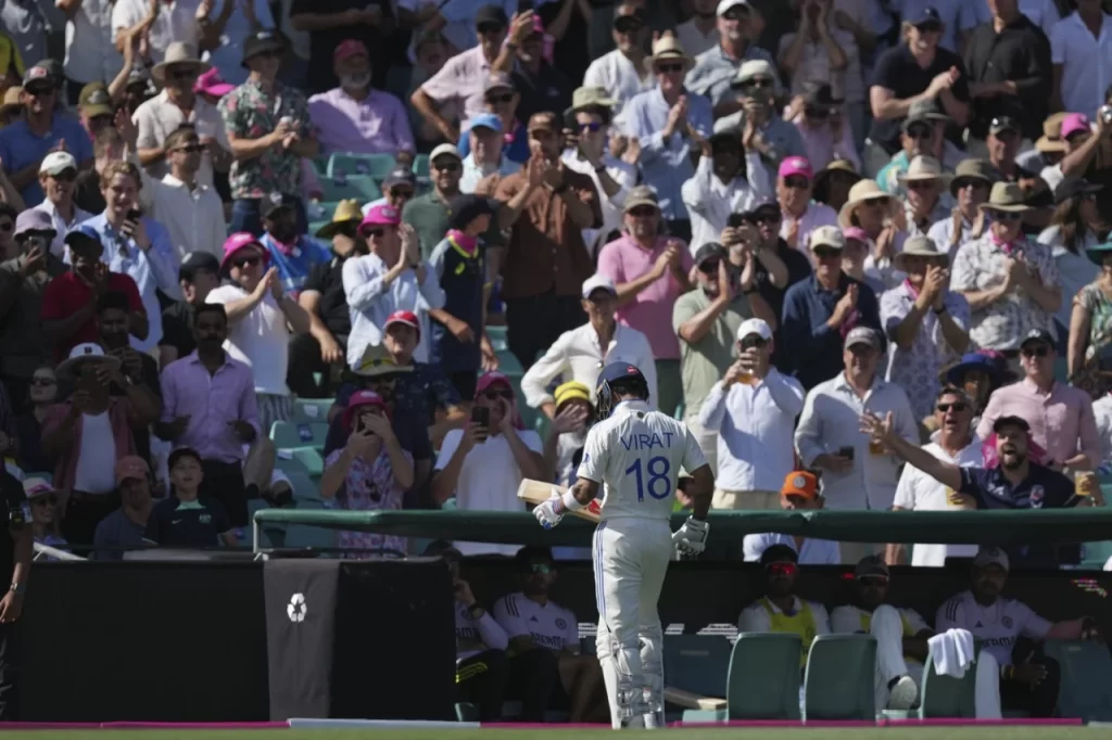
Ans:
[[[812,388],[795,430],[795,449],[803,467],[812,468],[820,454],[837,454],[843,447],[854,450],[853,468],[848,472],[823,470],[822,491],[827,509],[884,511],[892,508],[901,461],[892,454],[868,451],[868,437],[860,431],[861,414],[866,409],[882,419],[891,411],[900,436],[919,443],[915,414],[907,394],[898,386],[877,377],[861,399],[850,387],[845,373],[840,372]]]

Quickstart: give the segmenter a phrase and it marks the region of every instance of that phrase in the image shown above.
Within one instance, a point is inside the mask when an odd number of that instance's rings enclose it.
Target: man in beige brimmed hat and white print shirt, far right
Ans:
[[[1024,198],[1017,184],[992,187],[989,200],[981,203],[992,223],[984,236],[957,251],[950,282],[970,303],[970,339],[1013,359],[1022,337],[1052,328],[1062,301],[1050,250],[1023,236],[1023,214],[1031,210]]]

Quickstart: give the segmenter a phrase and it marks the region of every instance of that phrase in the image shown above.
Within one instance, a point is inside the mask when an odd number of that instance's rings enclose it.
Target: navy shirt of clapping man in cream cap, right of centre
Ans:
[[[856,283],[857,307],[854,326],[872,327],[881,331],[881,311],[873,289],[844,272],[837,290],[826,290],[812,274],[787,289],[784,296],[784,318],[781,337],[784,347],[792,348],[792,374],[811,390],[824,380],[842,372],[842,342],[840,329],[826,326],[834,316],[834,307],[842,300],[851,284]],[[778,366],[777,366],[778,367]]]

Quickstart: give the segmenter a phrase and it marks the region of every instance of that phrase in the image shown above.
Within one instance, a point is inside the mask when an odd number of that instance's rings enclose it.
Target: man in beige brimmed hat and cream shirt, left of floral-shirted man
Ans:
[[[168,139],[182,123],[193,124],[202,147],[197,180],[211,188],[214,163],[221,170],[228,169],[231,144],[220,111],[203,96],[193,92],[198,76],[208,69],[209,66],[198,59],[197,48],[187,43],[171,43],[166,60],[151,69],[162,91],[139,106],[132,118],[139,162],[156,180],[171,171],[173,162]]]

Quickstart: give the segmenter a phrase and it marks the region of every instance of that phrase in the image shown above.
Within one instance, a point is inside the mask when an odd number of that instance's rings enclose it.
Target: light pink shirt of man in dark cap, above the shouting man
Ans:
[[[1020,417],[1031,424],[1031,439],[1062,463],[1084,452],[1096,468],[1101,463],[1101,438],[1089,393],[1055,382],[1043,393],[1024,378],[1005,386],[989,398],[989,407],[976,428],[977,437],[987,439],[992,424],[1001,417]]]

